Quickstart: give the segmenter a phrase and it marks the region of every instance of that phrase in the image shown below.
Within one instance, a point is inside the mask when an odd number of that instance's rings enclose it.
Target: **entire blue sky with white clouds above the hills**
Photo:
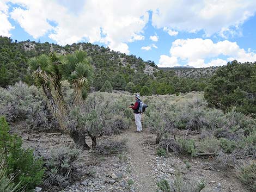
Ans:
[[[255,14],[254,0],[0,0],[0,35],[209,67],[256,61]]]

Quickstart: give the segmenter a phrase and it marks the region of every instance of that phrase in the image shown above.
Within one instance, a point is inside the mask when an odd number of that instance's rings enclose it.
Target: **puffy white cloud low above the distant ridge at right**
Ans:
[[[218,57],[225,57],[226,60]],[[240,48],[236,42],[228,40],[214,43],[210,39],[177,39],[172,43],[170,56],[161,55],[159,66],[172,67],[174,59],[186,62],[193,67],[221,66],[227,64],[227,61],[237,60],[240,62],[256,61],[256,53],[250,49]],[[205,63],[205,60],[211,60]],[[169,62],[169,64],[168,64]]]

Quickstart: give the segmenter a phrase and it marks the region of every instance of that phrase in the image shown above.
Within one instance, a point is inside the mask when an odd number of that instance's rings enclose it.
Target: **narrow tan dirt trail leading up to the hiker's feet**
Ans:
[[[150,156],[148,148],[143,146],[147,131],[135,133],[136,128],[130,128],[122,136],[127,139],[127,148],[131,158],[131,174],[134,176],[134,186],[136,192],[155,192],[156,181],[153,178],[151,163],[153,157]]]

